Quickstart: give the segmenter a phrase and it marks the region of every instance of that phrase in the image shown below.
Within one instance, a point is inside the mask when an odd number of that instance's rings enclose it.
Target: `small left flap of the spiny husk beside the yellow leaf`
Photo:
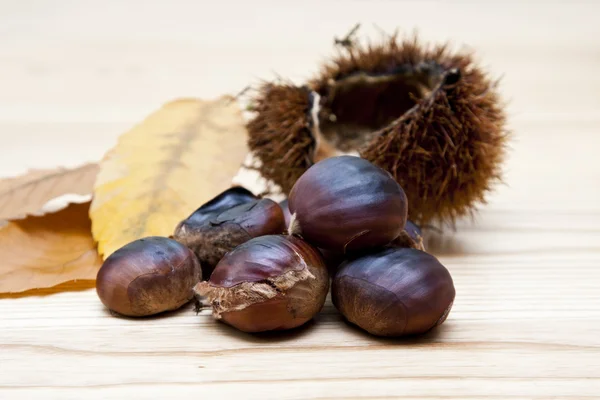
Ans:
[[[261,174],[285,193],[312,165],[310,107],[310,91],[292,85],[265,84],[254,99],[248,146],[261,161]]]

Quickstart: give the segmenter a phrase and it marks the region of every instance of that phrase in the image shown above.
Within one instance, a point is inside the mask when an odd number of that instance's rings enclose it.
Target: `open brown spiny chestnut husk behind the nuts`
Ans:
[[[411,220],[453,222],[500,179],[507,132],[496,84],[469,54],[396,36],[344,48],[301,87],[268,83],[254,99],[249,146],[289,193],[339,152],[390,172]]]

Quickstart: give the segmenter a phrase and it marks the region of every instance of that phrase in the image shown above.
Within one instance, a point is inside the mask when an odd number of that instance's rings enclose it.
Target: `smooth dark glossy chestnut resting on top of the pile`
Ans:
[[[386,245],[406,223],[406,195],[392,176],[355,156],[310,167],[289,195],[290,232],[344,254]]]

